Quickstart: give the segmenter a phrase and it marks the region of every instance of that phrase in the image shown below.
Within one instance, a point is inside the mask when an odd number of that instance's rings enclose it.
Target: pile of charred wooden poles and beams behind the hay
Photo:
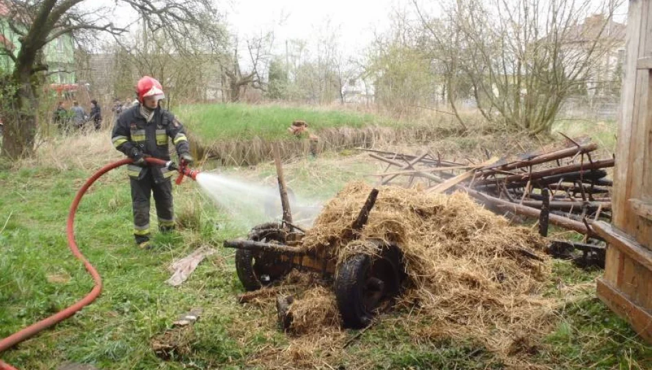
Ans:
[[[549,222],[589,238],[590,223],[610,221],[612,215],[613,183],[607,177],[614,158],[596,160],[592,154],[597,149],[587,138],[567,138],[566,143],[535,153],[485,162],[444,160],[431,151],[412,156],[360,150],[388,164],[384,173],[375,174],[382,185],[412,186],[421,181],[430,193],[463,190],[495,212],[538,218],[544,235]]]

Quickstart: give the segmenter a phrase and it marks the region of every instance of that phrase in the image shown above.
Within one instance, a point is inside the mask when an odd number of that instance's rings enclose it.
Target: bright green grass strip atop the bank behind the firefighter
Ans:
[[[303,120],[309,130],[318,132],[327,127],[364,127],[391,125],[388,119],[372,114],[289,108],[282,106],[251,106],[246,104],[195,104],[174,110],[189,132],[205,141],[223,139],[286,138],[294,120]]]

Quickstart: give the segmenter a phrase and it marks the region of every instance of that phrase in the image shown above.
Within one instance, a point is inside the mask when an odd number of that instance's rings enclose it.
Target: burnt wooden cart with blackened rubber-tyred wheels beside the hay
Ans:
[[[356,221],[329,245],[304,248],[303,231],[288,223],[264,223],[253,227],[246,240],[226,240],[224,247],[237,249],[235,269],[240,282],[247,291],[256,291],[281,282],[292,269],[319,273],[334,288],[344,325],[369,325],[376,312],[391,306],[401,292],[406,277],[401,249],[380,239],[366,239],[375,254],[352,254],[338,264],[334,246],[358,243],[377,195],[378,190],[372,190]],[[284,309],[280,303],[279,320],[287,328]]]

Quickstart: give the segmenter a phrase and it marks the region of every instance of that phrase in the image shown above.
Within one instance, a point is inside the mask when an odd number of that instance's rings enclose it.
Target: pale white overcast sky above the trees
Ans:
[[[417,0],[420,6],[434,10],[432,0]],[[507,0],[520,1],[520,0]],[[541,0],[546,3],[550,0]],[[603,0],[590,0],[595,4]],[[614,0],[616,1],[616,0]],[[616,11],[616,21],[627,18],[627,0]],[[345,58],[360,56],[373,40],[391,25],[397,10],[412,9],[412,0],[215,0],[224,14],[229,32],[241,40],[273,32],[275,53],[283,55],[286,40],[303,39],[316,42],[327,32],[336,34],[338,47]],[[115,3],[113,0],[93,0],[96,5]],[[434,13],[436,14],[436,13]],[[132,10],[119,9],[115,17],[125,20]],[[244,45],[241,47],[244,49]],[[243,50],[244,51],[244,50]],[[241,55],[244,55],[241,53]]]

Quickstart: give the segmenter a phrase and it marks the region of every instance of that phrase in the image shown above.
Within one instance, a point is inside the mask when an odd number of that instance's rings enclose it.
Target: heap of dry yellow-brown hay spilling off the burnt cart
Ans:
[[[524,336],[548,330],[556,302],[542,296],[550,281],[543,240],[463,193],[382,187],[360,240],[329,243],[353,223],[371,189],[363,182],[349,184],[325,206],[303,245],[331,245],[340,261],[375,253],[373,243],[366,243],[371,238],[399,245],[409,277],[399,306],[432,323],[412,328],[415,338],[474,338],[512,356],[515,348],[530,347],[519,344]]]

